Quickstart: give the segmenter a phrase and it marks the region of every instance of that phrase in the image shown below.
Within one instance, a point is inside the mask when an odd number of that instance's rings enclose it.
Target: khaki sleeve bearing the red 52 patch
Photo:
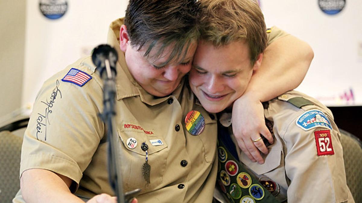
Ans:
[[[299,111],[303,114],[303,110]],[[327,113],[325,113],[328,115]],[[340,132],[328,116],[332,130],[313,128],[307,131],[296,125],[296,117],[287,123],[282,136],[286,143],[285,171],[290,180],[288,202],[344,202],[348,199]],[[329,131],[331,143],[323,142],[321,151],[332,148],[333,155],[318,155],[316,131]]]

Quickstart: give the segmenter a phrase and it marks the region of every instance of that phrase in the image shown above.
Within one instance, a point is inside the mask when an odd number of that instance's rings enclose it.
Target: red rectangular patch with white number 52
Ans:
[[[329,130],[319,130],[314,131],[314,135],[316,138],[317,145],[317,155],[333,155],[333,146],[332,146],[332,138],[331,131]]]

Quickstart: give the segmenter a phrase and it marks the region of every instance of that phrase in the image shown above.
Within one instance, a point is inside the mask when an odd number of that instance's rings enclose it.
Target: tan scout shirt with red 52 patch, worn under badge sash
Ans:
[[[311,101],[313,105],[297,108],[286,102],[296,97],[303,97]],[[346,185],[341,135],[333,121],[332,112],[316,99],[297,91],[286,92],[270,100],[268,104],[264,114],[265,118],[273,124],[275,137],[274,143],[268,147],[269,154],[263,157],[265,163],[253,163],[237,147],[240,161],[257,177],[268,177],[279,185],[280,191],[276,196],[278,200],[287,199],[288,202],[296,203],[354,202]],[[301,119],[300,116],[310,110],[323,112],[331,122],[332,130],[326,127],[310,129],[299,127],[296,123]],[[225,117],[225,120],[229,120],[230,116],[229,114],[229,118]],[[222,123],[228,125],[227,122]],[[330,132],[330,142],[329,139],[327,141],[324,138],[321,140],[316,138],[315,133],[319,134],[321,130]],[[231,126],[229,132],[232,134]],[[237,146],[233,135],[232,139]],[[333,151],[334,154],[319,155],[318,148],[320,153]]]

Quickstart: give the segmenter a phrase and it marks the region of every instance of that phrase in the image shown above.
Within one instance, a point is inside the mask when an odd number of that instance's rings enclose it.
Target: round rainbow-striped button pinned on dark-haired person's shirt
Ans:
[[[192,135],[199,135],[205,129],[205,119],[198,111],[190,111],[185,117],[185,127]]]

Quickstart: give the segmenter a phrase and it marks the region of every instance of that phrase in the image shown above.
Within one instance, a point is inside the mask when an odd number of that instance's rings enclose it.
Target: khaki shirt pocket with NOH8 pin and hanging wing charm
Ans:
[[[139,188],[141,193],[155,189],[163,181],[167,164],[168,146],[164,139],[155,134],[120,129],[118,129],[118,135],[121,138],[123,189],[131,191]],[[150,184],[147,184],[143,175],[142,168],[143,164],[146,163],[146,151],[141,149],[142,143],[146,143],[148,146],[148,164],[151,166]]]

